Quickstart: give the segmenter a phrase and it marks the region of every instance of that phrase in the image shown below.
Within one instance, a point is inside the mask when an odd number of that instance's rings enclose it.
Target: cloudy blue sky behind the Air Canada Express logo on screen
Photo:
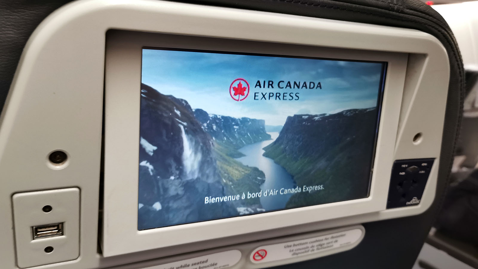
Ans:
[[[293,114],[376,106],[380,72],[380,63],[143,49],[141,82],[185,99],[193,109],[282,125]],[[234,101],[229,95],[236,78],[250,84],[244,101]],[[274,89],[254,88],[257,80],[273,80]],[[278,89],[280,80],[320,81],[322,90]],[[254,92],[299,92],[300,99],[256,101]]]

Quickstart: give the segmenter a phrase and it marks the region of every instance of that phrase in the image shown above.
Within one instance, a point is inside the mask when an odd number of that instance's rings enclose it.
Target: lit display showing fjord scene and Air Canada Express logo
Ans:
[[[368,197],[385,70],[143,48],[138,229]]]

